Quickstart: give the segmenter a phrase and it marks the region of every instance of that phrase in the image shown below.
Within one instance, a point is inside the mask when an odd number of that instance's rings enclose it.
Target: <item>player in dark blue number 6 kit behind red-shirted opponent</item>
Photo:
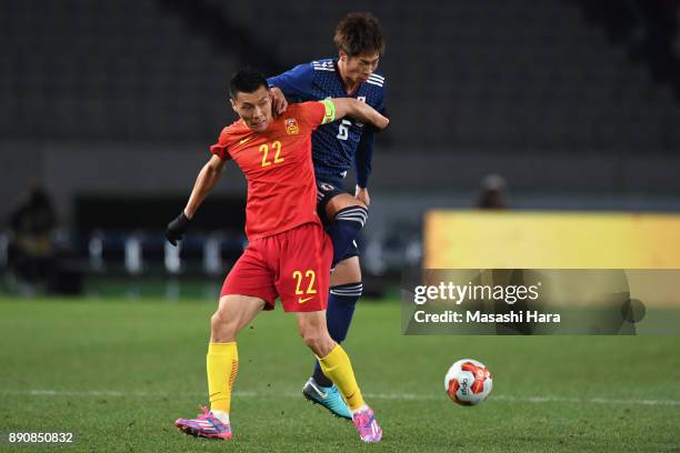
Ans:
[[[291,101],[354,98],[384,114],[384,77],[374,72],[384,52],[378,19],[371,13],[349,13],[338,24],[333,41],[338,58],[299,64],[268,79],[276,112],[286,110],[286,98]],[[369,124],[344,118],[319,127],[312,134],[317,208],[333,243],[334,270],[327,323],[331,338],[338,343],[347,336],[363,289],[354,238],[368,219],[373,132]],[[353,195],[348,193],[342,182],[352,165],[357,175]],[[318,362],[302,393],[331,413],[351,420],[346,402]]]

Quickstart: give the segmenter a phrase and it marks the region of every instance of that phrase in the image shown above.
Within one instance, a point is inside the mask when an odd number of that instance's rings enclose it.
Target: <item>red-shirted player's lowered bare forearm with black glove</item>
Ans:
[[[199,172],[187,205],[178,218],[170,222],[166,229],[166,238],[168,238],[168,241],[170,241],[172,245],[177,245],[177,241],[182,239],[182,235],[184,235],[189,226],[189,221],[193,218],[193,214],[196,214],[196,211],[203,200],[206,200],[206,197],[208,197],[214,184],[220,180],[224,163],[227,163],[227,161],[213,155]]]

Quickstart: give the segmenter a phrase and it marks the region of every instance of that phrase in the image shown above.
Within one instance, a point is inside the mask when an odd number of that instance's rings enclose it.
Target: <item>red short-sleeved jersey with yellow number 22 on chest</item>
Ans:
[[[330,110],[330,109],[328,109]],[[242,120],[228,125],[210,152],[233,159],[248,181],[246,235],[250,241],[320,223],[311,159],[311,133],[333,121],[323,102],[290,104],[267,130],[254,132]]]

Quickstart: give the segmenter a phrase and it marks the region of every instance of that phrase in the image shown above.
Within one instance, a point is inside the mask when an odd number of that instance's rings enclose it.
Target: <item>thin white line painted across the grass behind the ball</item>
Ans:
[[[286,397],[300,397],[301,392],[252,392],[252,391],[236,391],[234,397],[269,397],[282,395]],[[17,396],[136,396],[136,397],[177,397],[177,396],[204,396],[203,393],[168,393],[168,392],[121,392],[112,390],[6,390],[0,391],[0,395],[17,395]],[[444,399],[442,391],[441,395],[436,394],[416,394],[416,393],[367,393],[366,397],[374,400],[400,400],[400,401],[436,401]],[[680,400],[626,400],[611,397],[568,397],[568,396],[511,396],[511,395],[491,395],[490,401],[500,401],[509,403],[572,403],[572,404],[634,404],[634,405],[668,405],[678,406]]]

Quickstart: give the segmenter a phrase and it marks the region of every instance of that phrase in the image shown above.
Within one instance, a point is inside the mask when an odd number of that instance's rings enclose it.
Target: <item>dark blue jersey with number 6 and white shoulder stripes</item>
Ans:
[[[326,98],[350,98],[344,91],[338,61],[333,59],[299,64],[288,72],[268,79],[270,87],[283,91],[293,101]],[[379,112],[384,111],[384,76],[371,74],[351,98],[367,102]],[[357,183],[366,188],[371,173],[373,132],[353,118],[343,118],[319,127],[312,133],[312,160],[319,181],[338,181],[356,165]]]

